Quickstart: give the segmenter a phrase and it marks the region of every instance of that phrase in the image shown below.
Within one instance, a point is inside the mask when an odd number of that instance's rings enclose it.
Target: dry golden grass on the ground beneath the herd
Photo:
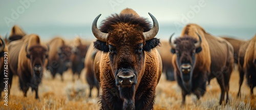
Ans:
[[[84,78],[84,71],[80,81],[72,82],[72,74],[69,70],[64,74],[64,81],[60,77],[53,80],[46,72],[42,83],[39,86],[39,98],[35,99],[35,93],[28,91],[23,97],[22,91],[18,87],[18,78],[14,77],[11,88],[11,95],[8,99],[8,106],[4,106],[4,101],[0,102],[0,109],[99,109],[97,103],[97,91],[93,89],[92,98],[88,98],[89,87]],[[249,95],[249,87],[242,85],[242,96],[237,98],[239,87],[239,74],[233,72],[230,79],[229,99],[226,105],[219,105],[220,88],[216,79],[211,80],[207,86],[206,94],[197,100],[195,95],[186,97],[186,105],[181,106],[181,90],[177,83],[165,80],[162,75],[157,86],[155,109],[256,109],[255,95]],[[255,91],[255,90],[254,90]],[[3,100],[3,99],[2,99]]]

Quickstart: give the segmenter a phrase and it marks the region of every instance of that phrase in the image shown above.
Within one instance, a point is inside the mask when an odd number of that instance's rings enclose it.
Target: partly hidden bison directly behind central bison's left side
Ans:
[[[97,87],[98,95],[99,95],[99,83],[95,78],[94,74],[94,58],[96,55],[96,50],[93,48],[93,43],[89,46],[88,52],[86,54],[86,59],[84,59],[84,65],[86,66],[86,80],[87,83],[90,85],[90,94],[89,97],[92,96],[92,89],[93,87]]]

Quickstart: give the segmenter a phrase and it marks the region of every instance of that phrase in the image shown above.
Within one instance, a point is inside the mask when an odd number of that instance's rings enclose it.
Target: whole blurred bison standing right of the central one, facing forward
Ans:
[[[173,35],[172,35],[173,36]],[[221,87],[220,104],[227,93],[229,79],[233,69],[233,48],[229,42],[214,37],[196,24],[183,28],[181,37],[174,43],[170,37],[173,64],[177,73],[177,81],[182,89],[182,103],[185,96],[194,93],[199,99],[206,91],[206,81],[217,78]]]

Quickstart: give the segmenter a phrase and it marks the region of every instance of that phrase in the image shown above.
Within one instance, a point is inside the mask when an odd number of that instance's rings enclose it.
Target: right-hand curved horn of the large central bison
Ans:
[[[150,15],[150,17],[153,20],[153,27],[150,31],[143,32],[143,36],[145,37],[145,40],[150,40],[150,39],[154,38],[157,35],[158,30],[159,30],[158,21],[155,18],[155,16],[153,16],[151,13],[148,13],[148,14]]]

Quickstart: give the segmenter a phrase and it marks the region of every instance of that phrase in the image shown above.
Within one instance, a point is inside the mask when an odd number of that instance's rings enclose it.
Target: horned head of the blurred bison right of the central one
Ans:
[[[173,34],[174,35],[174,34]],[[185,36],[177,38],[174,43],[170,36],[169,43],[172,47],[171,52],[176,54],[176,64],[179,76],[182,79],[183,85],[187,91],[191,90],[191,78],[193,70],[196,65],[196,54],[201,52],[201,37],[199,34],[199,41],[193,37]]]

